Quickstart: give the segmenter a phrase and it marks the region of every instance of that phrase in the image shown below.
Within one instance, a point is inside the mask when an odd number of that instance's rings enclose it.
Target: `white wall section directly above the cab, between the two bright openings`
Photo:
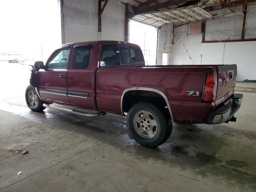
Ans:
[[[103,6],[104,3],[102,3]],[[124,41],[125,5],[109,0],[102,14],[102,32],[98,32],[97,0],[64,0],[64,41]]]

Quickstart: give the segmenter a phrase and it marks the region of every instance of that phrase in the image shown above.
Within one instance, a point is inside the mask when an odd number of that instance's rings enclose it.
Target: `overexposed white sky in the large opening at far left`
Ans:
[[[0,52],[49,56],[61,45],[59,0],[1,0]]]

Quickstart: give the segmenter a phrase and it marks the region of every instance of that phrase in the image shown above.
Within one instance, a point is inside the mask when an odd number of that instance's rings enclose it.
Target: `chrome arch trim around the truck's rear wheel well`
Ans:
[[[122,97],[121,97],[121,112],[122,112],[122,116],[124,116],[124,112],[123,112],[123,98],[124,98],[124,95],[128,92],[128,91],[131,91],[131,90],[144,90],[144,91],[152,91],[152,92],[156,92],[158,94],[160,94],[165,102],[166,102],[166,105],[168,107],[168,110],[170,112],[170,116],[172,118],[172,121],[174,121],[174,118],[172,116],[172,110],[170,108],[170,104],[169,104],[169,101],[168,101],[168,98],[166,97],[166,95],[160,91],[160,90],[157,90],[157,89],[154,89],[154,88],[147,88],[147,87],[131,87],[131,88],[127,88],[126,90],[124,90],[124,92],[122,93]]]

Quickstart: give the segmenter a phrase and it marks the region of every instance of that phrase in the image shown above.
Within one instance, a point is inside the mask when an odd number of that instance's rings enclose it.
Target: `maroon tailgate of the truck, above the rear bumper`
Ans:
[[[217,70],[218,89],[215,102],[216,106],[234,94],[237,75],[236,64],[217,66]]]

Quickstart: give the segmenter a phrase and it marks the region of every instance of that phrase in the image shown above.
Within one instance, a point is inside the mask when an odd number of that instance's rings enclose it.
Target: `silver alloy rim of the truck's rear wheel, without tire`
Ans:
[[[147,139],[154,137],[158,128],[156,118],[145,110],[135,114],[133,126],[139,136]]]

